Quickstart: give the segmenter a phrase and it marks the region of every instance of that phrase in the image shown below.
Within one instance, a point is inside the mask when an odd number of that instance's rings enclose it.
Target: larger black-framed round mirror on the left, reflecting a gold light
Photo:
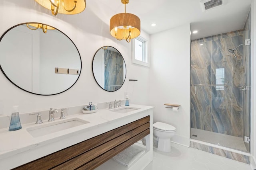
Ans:
[[[0,38],[0,68],[18,88],[54,95],[76,83],[82,62],[74,43],[60,30],[42,23],[22,23]]]

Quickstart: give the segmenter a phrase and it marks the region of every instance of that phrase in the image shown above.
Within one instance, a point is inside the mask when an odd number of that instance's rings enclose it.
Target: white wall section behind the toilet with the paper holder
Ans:
[[[173,142],[189,146],[190,139],[190,24],[150,36],[150,106],[154,122],[176,127]],[[164,104],[180,104],[178,112]]]

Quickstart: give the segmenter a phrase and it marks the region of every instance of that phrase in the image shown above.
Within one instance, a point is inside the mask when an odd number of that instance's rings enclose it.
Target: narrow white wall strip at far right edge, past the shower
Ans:
[[[255,166],[256,162],[256,0],[251,5],[251,154]]]

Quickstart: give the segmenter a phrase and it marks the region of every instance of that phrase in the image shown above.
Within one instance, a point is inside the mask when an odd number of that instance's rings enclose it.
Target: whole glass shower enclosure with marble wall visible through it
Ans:
[[[191,42],[190,138],[244,152],[250,152],[248,21],[244,29]]]

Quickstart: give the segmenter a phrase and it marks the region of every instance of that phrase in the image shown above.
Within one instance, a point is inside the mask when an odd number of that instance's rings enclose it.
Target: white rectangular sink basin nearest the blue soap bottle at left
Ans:
[[[28,133],[30,133],[30,135],[32,135],[32,137],[40,137],[40,136],[48,135],[50,133],[84,125],[86,123],[90,123],[90,122],[84,121],[78,118],[73,118],[73,119],[66,119],[63,121],[56,121],[56,122],[52,122],[45,125],[42,124],[35,127],[29,127],[26,130],[28,131]]]

